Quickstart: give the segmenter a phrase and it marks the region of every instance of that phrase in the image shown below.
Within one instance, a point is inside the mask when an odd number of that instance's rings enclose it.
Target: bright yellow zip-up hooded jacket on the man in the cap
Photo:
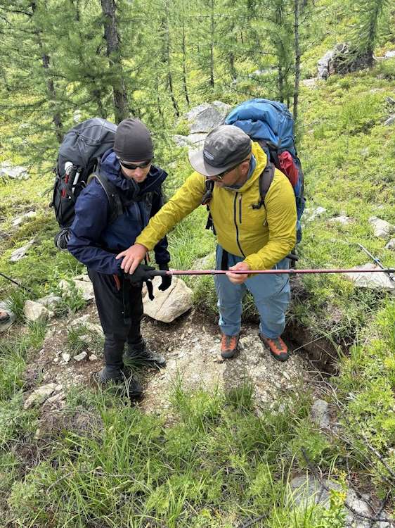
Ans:
[[[235,191],[214,185],[209,208],[218,243],[228,253],[245,257],[251,270],[269,270],[294,248],[296,203],[290,181],[276,169],[264,206],[252,208],[260,201],[259,175],[266,167],[266,154],[259,144],[252,143],[252,153],[257,165],[247,182]],[[193,172],[151,218],[136,244],[153,249],[174,225],[200,206],[204,194],[205,177]]]

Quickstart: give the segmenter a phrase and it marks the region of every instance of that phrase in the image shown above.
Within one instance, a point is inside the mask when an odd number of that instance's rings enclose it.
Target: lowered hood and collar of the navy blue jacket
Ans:
[[[113,149],[103,154],[98,170],[103,172],[115,187],[122,189],[122,194],[126,199],[130,200],[139,199],[143,194],[160,189],[161,184],[167,178],[167,172],[155,165],[151,165],[148,176],[141,184],[124,177],[121,171],[121,165]]]

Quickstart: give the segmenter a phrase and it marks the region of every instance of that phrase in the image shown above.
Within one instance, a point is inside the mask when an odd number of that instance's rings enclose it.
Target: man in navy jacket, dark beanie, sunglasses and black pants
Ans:
[[[141,336],[142,284],[131,282],[133,277],[122,272],[122,260],[115,259],[117,253],[134,244],[162,207],[161,187],[167,173],[152,165],[152,159],[153,142],[147,127],[138,119],[123,120],[117,127],[114,149],[105,152],[98,168],[101,176],[117,188],[122,214],[110,222],[108,196],[96,179],[82,191],[75,205],[67,249],[87,266],[93,284],[105,335],[105,367],[96,376],[103,384],[124,379],[125,343],[125,360],[166,365],[162,356],[149,351]],[[166,237],[154,251],[159,268],[168,270]],[[160,289],[167,289],[170,284],[171,277],[162,277]],[[134,378],[129,382],[129,391],[141,394],[141,386]]]

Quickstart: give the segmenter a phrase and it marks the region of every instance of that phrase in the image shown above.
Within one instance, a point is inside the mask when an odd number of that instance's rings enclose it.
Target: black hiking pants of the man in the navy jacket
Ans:
[[[143,318],[142,285],[134,286],[123,277],[104,275],[88,269],[93,284],[98,315],[104,332],[104,359],[107,367],[122,369],[124,344],[141,343]]]

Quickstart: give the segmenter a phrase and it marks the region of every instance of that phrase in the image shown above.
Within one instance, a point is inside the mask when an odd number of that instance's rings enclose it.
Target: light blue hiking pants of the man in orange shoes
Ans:
[[[244,260],[228,253],[228,268]],[[221,270],[222,248],[216,246],[216,269]],[[283,258],[273,269],[287,270],[290,260]],[[226,275],[214,276],[217,306],[219,308],[219,327],[227,336],[240,332],[242,298],[248,290],[254,296],[255,306],[259,311],[261,333],[274,339],[283,333],[285,311],[290,303],[290,277],[281,275],[255,275],[243,284],[233,284]]]

